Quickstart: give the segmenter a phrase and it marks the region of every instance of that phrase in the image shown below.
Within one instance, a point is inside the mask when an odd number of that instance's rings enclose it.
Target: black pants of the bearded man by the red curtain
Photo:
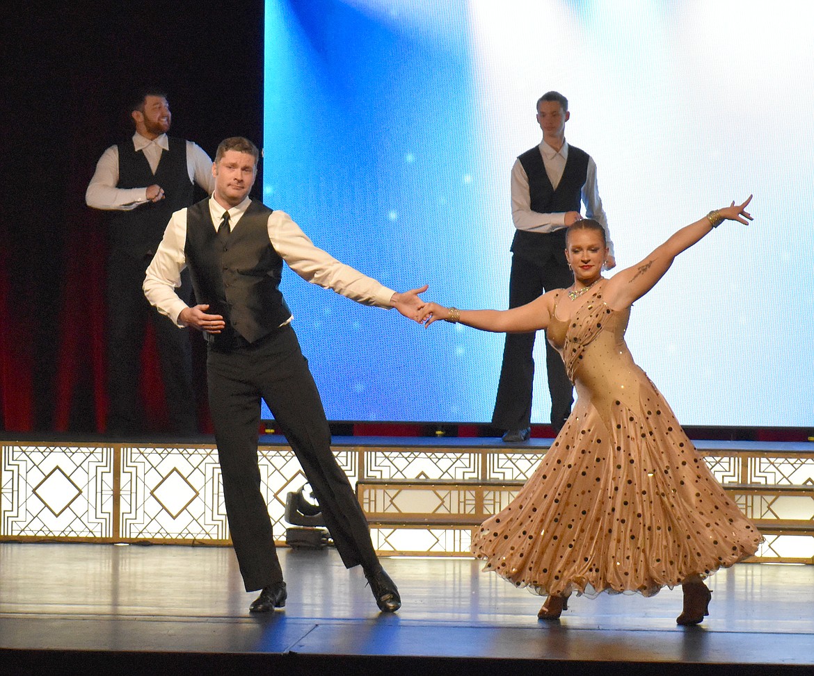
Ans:
[[[107,431],[125,436],[144,431],[139,377],[150,322],[155,329],[171,431],[190,436],[198,431],[198,417],[192,389],[189,329],[179,329],[144,297],[142,284],[149,263],[147,257],[134,258],[116,250],[107,261],[107,392],[110,399]],[[189,301],[189,275],[182,275],[182,281],[178,295]]]

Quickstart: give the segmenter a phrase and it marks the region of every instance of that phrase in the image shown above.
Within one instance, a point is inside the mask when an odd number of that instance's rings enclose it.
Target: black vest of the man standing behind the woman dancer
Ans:
[[[579,211],[582,186],[588,176],[589,156],[584,150],[568,146],[568,159],[562,171],[562,179],[554,190],[545,173],[540,147],[535,145],[518,158],[528,176],[528,191],[532,198],[532,211],[555,214],[563,211]],[[529,260],[542,260],[552,249],[565,249],[565,228],[554,232],[514,232],[511,250]]]

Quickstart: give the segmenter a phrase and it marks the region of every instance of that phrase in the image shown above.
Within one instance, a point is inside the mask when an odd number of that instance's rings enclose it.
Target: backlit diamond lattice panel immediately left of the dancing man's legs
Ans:
[[[214,448],[123,446],[120,495],[121,539],[229,538]]]

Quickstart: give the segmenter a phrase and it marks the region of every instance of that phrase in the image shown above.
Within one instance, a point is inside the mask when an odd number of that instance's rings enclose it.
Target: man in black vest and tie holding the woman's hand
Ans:
[[[226,515],[250,606],[264,613],[286,604],[257,466],[260,397],[300,461],[348,568],[362,565],[376,604],[400,608],[396,585],[379,564],[365,514],[330,450],[322,401],[278,284],[285,261],[300,277],[365,305],[395,307],[418,321],[418,293],[396,293],[317,249],[291,217],[248,197],[258,151],[242,137],[218,146],[211,199],[173,214],[147,269],[144,293],[179,327],[208,340],[209,405],[215,425]],[[199,305],[175,293],[188,267]]]

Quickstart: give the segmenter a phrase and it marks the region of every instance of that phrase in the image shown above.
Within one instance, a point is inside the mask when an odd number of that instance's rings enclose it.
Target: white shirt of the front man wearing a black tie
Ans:
[[[252,200],[247,197],[238,206],[230,208],[230,231],[237,227],[251,203]],[[212,216],[212,227],[216,230],[224,211],[213,198],[209,199],[209,214]],[[314,246],[285,211],[273,211],[269,215],[267,228],[274,250],[305,281],[333,289],[362,305],[391,307],[390,299],[396,292]],[[164,239],[155,252],[144,279],[147,300],[179,327],[185,325],[178,321],[178,315],[188,307],[175,293],[175,288],[181,285],[181,272],[186,267],[185,245],[186,209],[182,209],[169,219]],[[291,322],[291,317],[285,323],[288,322]]]

